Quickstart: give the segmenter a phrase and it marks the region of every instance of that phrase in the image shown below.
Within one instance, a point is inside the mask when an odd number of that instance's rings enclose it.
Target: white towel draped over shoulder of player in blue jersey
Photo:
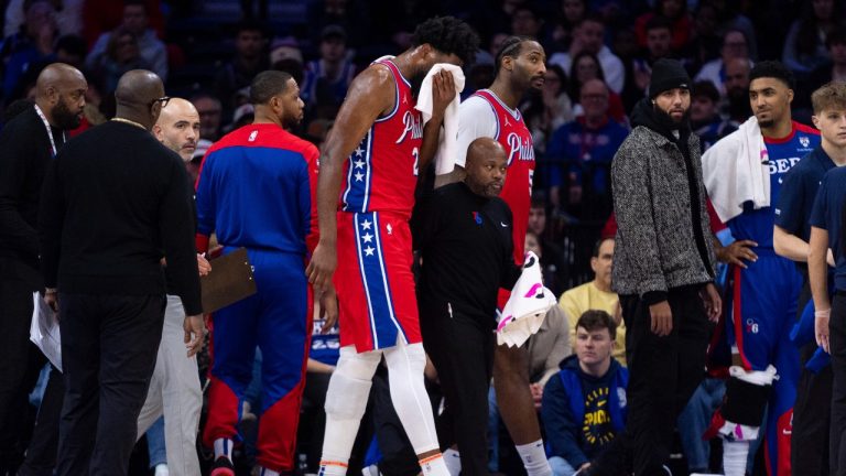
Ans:
[[[746,202],[756,209],[770,206],[769,155],[755,116],[702,155],[702,175],[724,223],[740,215]]]

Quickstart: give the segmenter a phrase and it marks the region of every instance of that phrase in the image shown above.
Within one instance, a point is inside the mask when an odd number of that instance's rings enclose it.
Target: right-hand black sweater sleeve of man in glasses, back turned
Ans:
[[[186,315],[203,313],[199,294],[199,271],[192,234],[191,190],[182,161],[175,158],[167,172],[166,188],[159,204],[159,234],[162,237],[167,274],[182,298]]]

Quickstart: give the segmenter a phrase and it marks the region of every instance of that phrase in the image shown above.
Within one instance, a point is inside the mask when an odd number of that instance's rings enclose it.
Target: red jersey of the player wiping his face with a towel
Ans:
[[[393,110],[377,119],[344,164],[346,184],[340,209],[352,213],[391,212],[405,219],[414,207],[417,160],[423,144],[423,117],[414,109],[411,84],[391,61],[397,85]]]

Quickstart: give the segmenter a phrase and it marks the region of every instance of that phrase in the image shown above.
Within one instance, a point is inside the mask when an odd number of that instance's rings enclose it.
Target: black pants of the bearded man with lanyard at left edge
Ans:
[[[40,288],[36,268],[0,258],[0,474],[14,474],[32,431],[26,396],[46,363],[30,342],[32,293]]]

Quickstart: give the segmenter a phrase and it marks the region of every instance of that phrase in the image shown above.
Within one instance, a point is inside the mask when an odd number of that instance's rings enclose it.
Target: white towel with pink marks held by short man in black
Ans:
[[[511,298],[502,310],[497,325],[497,344],[511,347],[523,345],[538,333],[546,311],[557,304],[555,294],[543,286],[541,264],[538,256],[529,251],[520,279],[517,280]]]

